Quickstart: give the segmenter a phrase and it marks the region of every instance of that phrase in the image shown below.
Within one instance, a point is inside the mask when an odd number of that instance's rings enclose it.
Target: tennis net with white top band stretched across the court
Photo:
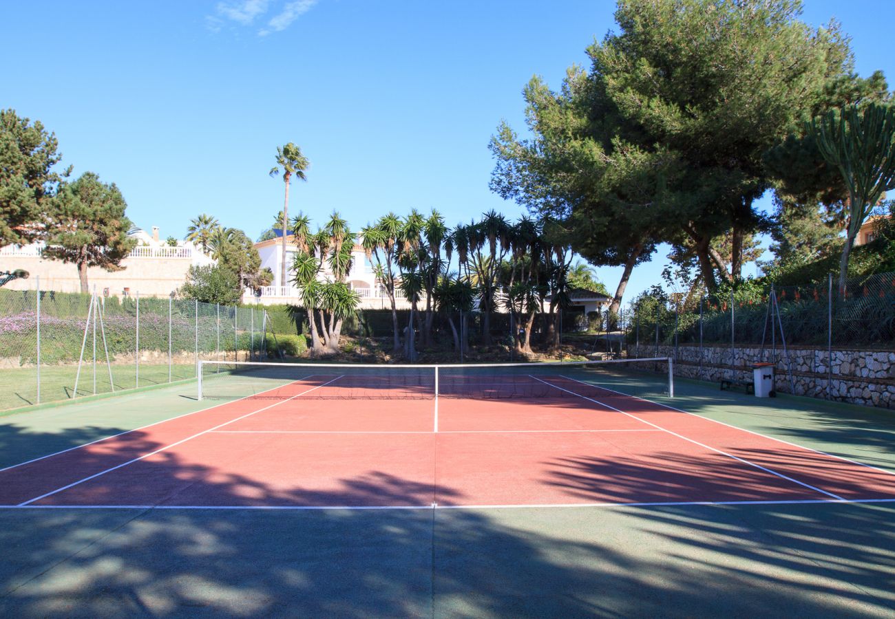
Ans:
[[[465,365],[201,360],[198,376],[200,400],[563,398],[579,397],[570,388],[576,383],[674,394],[672,362],[667,358]]]

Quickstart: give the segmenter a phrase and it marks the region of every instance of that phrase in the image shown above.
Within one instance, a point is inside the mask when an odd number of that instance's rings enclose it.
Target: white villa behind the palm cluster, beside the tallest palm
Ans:
[[[274,274],[273,285],[264,286],[260,289],[260,294],[256,295],[251,289],[247,289],[243,295],[244,302],[259,302],[262,305],[270,305],[274,303],[294,303],[300,302],[298,289],[295,288],[288,280],[292,275],[292,263],[295,252],[298,248],[291,239],[286,239],[286,282],[280,281],[283,260],[283,239],[282,237],[270,239],[255,243],[255,249],[261,257],[261,268],[268,267]],[[354,245],[352,249],[352,267],[348,274],[347,283],[354,292],[361,297],[361,309],[390,309],[391,304],[388,301],[382,285],[376,279],[373,273],[373,267],[370,260],[367,259],[363,248],[360,245]],[[323,273],[320,275],[322,279],[331,277],[328,267],[324,267]],[[409,309],[410,303],[405,300],[400,291],[395,292],[396,305],[398,309]]]

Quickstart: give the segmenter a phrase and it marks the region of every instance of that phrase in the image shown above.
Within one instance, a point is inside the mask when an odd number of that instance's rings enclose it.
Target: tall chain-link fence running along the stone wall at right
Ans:
[[[632,356],[669,356],[676,372],[721,385],[752,382],[770,363],[777,388],[874,405],[895,404],[895,274],[820,284],[756,285],[688,298],[654,291],[632,303]]]

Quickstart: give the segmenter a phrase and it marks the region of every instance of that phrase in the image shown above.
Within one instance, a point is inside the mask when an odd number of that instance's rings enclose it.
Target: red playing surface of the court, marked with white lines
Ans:
[[[890,471],[574,378],[530,380],[558,397],[328,399],[339,377],[307,377],[0,470],[0,506],[895,501]]]

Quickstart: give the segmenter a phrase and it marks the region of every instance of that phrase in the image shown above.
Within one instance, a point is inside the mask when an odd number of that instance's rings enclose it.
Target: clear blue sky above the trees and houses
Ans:
[[[544,3],[173,0],[7,3],[0,106],[55,131],[64,164],[116,182],[136,225],[183,237],[192,216],[257,237],[282,207],[276,147],[300,145],[308,182],[290,211],[360,227],[438,208],[448,224],[521,209],[488,190],[488,140],[524,129],[521,89],[566,67],[615,24],[610,0]],[[884,0],[805,0],[835,17],[857,70],[895,85]],[[769,206],[769,201],[765,204]],[[627,299],[660,280],[667,249]],[[618,268],[601,268],[610,289]]]

